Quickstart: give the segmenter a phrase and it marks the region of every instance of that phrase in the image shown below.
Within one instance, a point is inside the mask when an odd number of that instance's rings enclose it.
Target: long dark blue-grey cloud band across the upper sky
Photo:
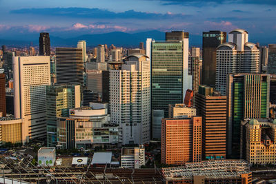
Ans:
[[[183,19],[188,17],[186,14],[174,14],[167,12],[161,14],[158,12],[137,12],[128,10],[125,12],[112,12],[99,8],[25,8],[11,10],[12,14],[33,14],[56,17],[74,17],[74,18],[95,18],[95,19]]]

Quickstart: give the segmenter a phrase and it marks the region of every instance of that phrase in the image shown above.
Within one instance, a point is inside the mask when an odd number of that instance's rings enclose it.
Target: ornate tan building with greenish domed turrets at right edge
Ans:
[[[251,165],[276,165],[276,119],[246,119],[241,124],[244,159]]]

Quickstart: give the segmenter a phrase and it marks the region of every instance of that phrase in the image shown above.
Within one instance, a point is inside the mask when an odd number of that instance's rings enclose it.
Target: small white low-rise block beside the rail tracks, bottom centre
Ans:
[[[121,148],[121,167],[139,169],[141,165],[145,165],[145,148],[143,145]]]

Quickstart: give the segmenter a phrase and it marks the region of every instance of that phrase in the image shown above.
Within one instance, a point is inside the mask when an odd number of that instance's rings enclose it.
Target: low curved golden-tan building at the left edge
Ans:
[[[5,143],[22,143],[23,119],[14,119],[12,116],[0,118],[0,145]]]

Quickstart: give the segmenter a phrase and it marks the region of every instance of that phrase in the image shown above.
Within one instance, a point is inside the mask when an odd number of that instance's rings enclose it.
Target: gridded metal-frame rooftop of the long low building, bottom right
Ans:
[[[166,181],[174,181],[193,179],[193,176],[205,176],[208,179],[240,178],[242,174],[250,173],[250,170],[248,163],[244,160],[217,160],[163,168],[162,172]]]

